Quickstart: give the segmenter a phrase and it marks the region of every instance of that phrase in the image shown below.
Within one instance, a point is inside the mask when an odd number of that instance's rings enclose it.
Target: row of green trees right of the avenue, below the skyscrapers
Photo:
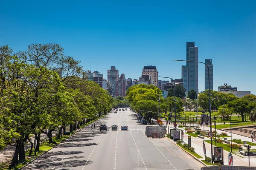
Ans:
[[[195,111],[197,107],[197,93],[194,90],[188,92],[187,100],[186,90],[182,85],[175,85],[174,88],[169,88],[166,99],[163,99],[162,92],[154,85],[139,84],[132,86],[126,92],[126,99],[130,103],[130,107],[136,111],[158,111],[158,102],[160,102],[160,112],[167,111],[174,113],[174,94],[176,94],[176,114],[180,114],[186,109],[187,111]],[[211,109],[218,111],[218,115],[224,119],[230,119],[231,114],[241,115],[241,120],[244,122],[244,116],[248,116],[252,122],[256,122],[256,96],[247,95],[241,98],[236,97],[232,93],[222,93],[218,91],[210,91]],[[160,99],[160,100],[159,100]],[[208,90],[199,94],[198,111],[209,111],[209,94]],[[225,111],[224,111],[225,108]],[[224,115],[225,114],[225,115]],[[157,115],[152,113],[144,114],[149,120],[152,117],[157,118]]]

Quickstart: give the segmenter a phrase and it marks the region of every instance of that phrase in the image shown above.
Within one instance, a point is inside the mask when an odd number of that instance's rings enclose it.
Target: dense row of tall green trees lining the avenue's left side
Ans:
[[[107,91],[82,78],[83,70],[58,44],[32,44],[14,53],[8,45],[0,47],[0,149],[15,144],[11,166],[25,161],[24,144],[45,133],[52,143],[65,125],[79,128],[81,122],[108,112],[113,99]],[[48,129],[45,131],[45,129]]]

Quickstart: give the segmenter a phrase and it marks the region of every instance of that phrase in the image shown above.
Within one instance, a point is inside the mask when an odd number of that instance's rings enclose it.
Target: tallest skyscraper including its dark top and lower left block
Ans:
[[[186,42],[186,60],[196,62],[186,62],[181,67],[181,75],[186,94],[193,89],[198,92],[198,47],[195,42]]]

